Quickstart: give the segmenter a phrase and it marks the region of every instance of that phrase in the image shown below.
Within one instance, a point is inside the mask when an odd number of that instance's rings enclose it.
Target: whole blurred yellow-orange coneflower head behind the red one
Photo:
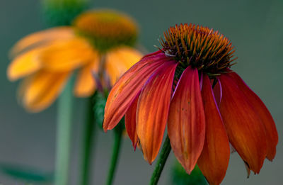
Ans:
[[[43,30],[16,43],[8,78],[25,77],[19,89],[23,105],[29,111],[41,111],[57,98],[76,69],[76,96],[93,94],[93,72],[103,78],[105,69],[114,84],[141,58],[132,47],[136,40],[137,26],[125,14],[88,11],[76,18],[74,26]]]

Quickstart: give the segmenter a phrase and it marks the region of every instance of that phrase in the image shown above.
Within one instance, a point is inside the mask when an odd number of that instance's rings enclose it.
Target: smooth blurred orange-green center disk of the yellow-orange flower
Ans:
[[[132,46],[137,40],[136,23],[117,11],[88,11],[76,18],[74,27],[101,52],[120,45]]]

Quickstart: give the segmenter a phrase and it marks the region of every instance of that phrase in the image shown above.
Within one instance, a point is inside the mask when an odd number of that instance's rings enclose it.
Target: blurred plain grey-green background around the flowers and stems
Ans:
[[[198,23],[219,30],[236,47],[238,74],[265,102],[279,133],[277,156],[265,161],[259,175],[246,179],[246,169],[236,153],[231,155],[223,184],[283,184],[283,1],[192,1],[192,0],[96,0],[96,8],[125,11],[139,23],[139,43],[149,52],[158,37],[175,23]],[[20,164],[52,172],[54,169],[56,106],[37,114],[26,113],[16,100],[18,83],[8,82],[8,50],[24,35],[46,28],[38,0],[0,1],[0,163]],[[76,99],[71,156],[71,184],[77,182],[80,136],[85,100]],[[110,132],[108,132],[110,133]],[[100,132],[96,148],[93,184],[103,184],[108,170],[112,134]],[[171,184],[171,152],[160,184]],[[147,164],[139,150],[125,139],[115,184],[147,184],[154,165]],[[0,174],[0,184],[23,184]]]

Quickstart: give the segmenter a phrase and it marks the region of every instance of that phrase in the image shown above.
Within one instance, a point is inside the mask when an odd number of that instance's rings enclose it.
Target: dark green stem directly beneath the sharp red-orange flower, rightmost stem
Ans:
[[[169,137],[167,135],[166,140],[165,140],[163,147],[162,147],[162,150],[161,150],[161,154],[160,154],[159,159],[156,163],[154,173],[151,176],[151,181],[150,181],[151,185],[156,185],[158,183],[158,180],[161,176],[161,172],[163,170],[163,167],[165,166],[166,160],[167,160],[170,152],[171,152],[171,145],[170,145]]]

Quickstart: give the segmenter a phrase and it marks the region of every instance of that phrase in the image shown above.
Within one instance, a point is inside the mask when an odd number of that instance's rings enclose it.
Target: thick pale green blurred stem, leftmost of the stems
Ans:
[[[73,84],[73,78],[69,79],[58,100],[55,185],[67,185],[69,179]]]

